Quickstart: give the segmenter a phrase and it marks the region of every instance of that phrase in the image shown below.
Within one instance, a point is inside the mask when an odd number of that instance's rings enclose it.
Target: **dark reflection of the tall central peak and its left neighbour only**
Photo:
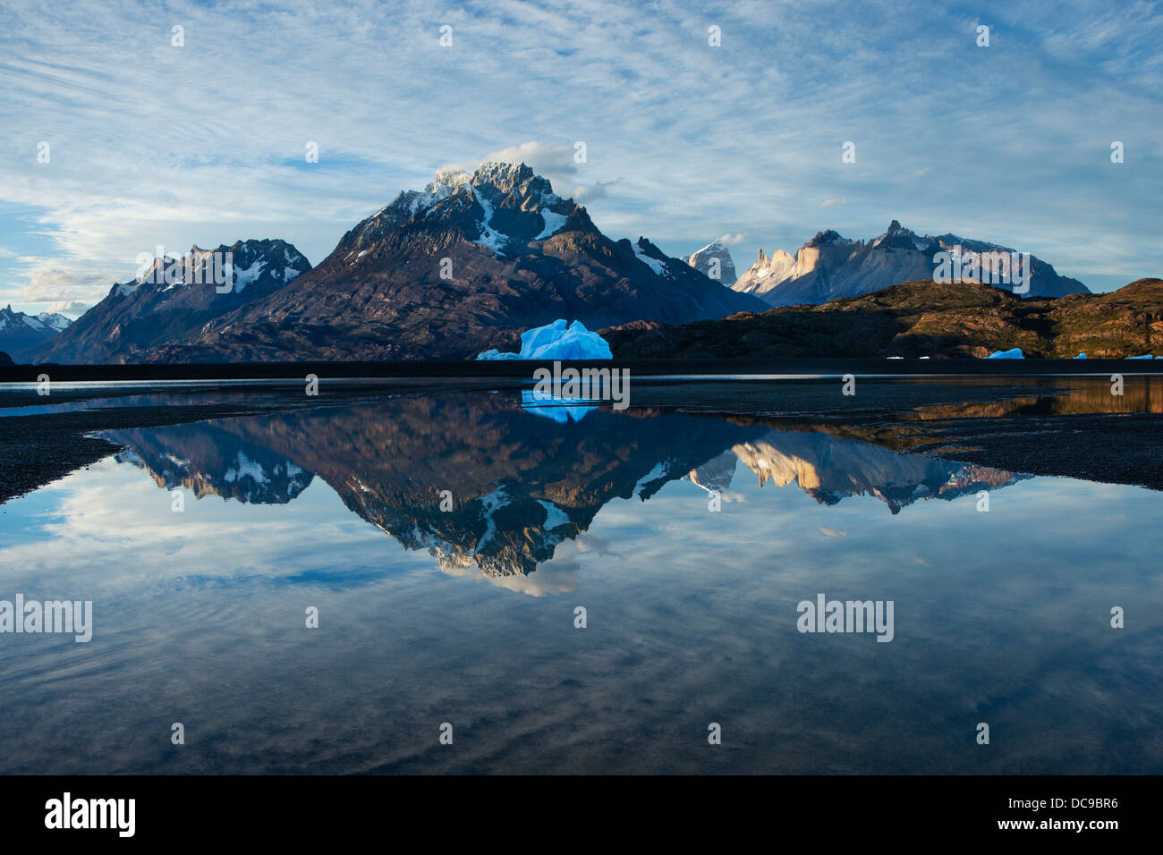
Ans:
[[[761,427],[597,409],[555,422],[513,397],[404,397],[172,427],[108,430],[159,487],[252,504],[294,500],[315,477],[349,511],[443,569],[527,575],[613,499],[647,500]],[[451,508],[441,491],[451,492]]]

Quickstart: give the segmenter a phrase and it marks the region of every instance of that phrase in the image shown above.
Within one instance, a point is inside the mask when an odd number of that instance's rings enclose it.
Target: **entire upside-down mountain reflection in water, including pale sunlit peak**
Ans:
[[[545,419],[501,394],[401,397],[348,407],[102,434],[158,486],[248,504],[293,500],[314,477],[444,569],[527,575],[613,499],[686,480],[726,492],[739,464],[825,505],[873,496],[896,514],[1025,476],[900,454],[814,429],[651,409]]]

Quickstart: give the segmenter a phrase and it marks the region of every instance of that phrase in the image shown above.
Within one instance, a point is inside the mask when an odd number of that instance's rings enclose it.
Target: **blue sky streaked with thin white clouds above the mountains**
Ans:
[[[740,272],[897,219],[1108,291],[1163,276],[1160,44],[1154,2],[0,0],[0,306],[76,316],[158,247],[315,264],[483,159]]]

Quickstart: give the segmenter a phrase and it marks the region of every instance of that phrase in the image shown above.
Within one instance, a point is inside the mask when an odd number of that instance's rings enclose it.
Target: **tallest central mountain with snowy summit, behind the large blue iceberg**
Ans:
[[[558,318],[682,323],[765,305],[644,237],[604,235],[527,165],[441,172],[273,293],[156,340],[151,362],[472,358]]]

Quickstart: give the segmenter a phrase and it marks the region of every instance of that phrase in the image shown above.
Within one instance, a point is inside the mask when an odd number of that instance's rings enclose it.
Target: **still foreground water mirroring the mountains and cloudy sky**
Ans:
[[[0,635],[3,772],[1163,771],[1153,491],[512,391],[109,436],[0,507],[94,611]]]

